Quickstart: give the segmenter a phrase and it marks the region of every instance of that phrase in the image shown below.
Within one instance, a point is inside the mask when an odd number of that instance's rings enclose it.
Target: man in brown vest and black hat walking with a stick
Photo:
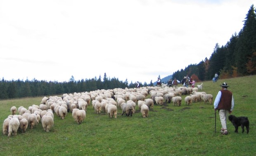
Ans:
[[[228,84],[223,83],[220,85],[222,89],[218,92],[215,101],[214,101],[214,109],[215,111],[218,110],[220,116],[220,123],[221,123],[221,134],[227,135],[227,123],[228,115],[231,114],[234,108],[234,99],[233,94],[228,90]]]

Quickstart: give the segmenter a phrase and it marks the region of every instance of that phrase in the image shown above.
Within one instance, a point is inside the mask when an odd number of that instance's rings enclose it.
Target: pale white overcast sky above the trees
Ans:
[[[0,78],[155,82],[209,59],[256,0],[0,0]]]

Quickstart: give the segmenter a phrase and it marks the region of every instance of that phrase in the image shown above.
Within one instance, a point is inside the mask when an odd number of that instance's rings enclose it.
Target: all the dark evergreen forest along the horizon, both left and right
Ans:
[[[256,10],[251,5],[244,25],[240,32],[232,34],[225,46],[216,43],[211,57],[207,57],[198,64],[190,64],[185,69],[173,73],[172,78],[182,80],[186,75],[196,82],[211,80],[215,73],[219,78],[234,78],[238,76],[254,75],[256,73]],[[160,75],[159,75],[160,76]],[[152,80],[140,86],[153,86]],[[92,79],[75,80],[73,76],[68,82],[45,80],[0,80],[0,99],[13,99],[31,96],[59,95],[73,92],[90,92],[97,89],[131,88],[135,83],[128,84],[118,78],[108,78],[104,73]]]

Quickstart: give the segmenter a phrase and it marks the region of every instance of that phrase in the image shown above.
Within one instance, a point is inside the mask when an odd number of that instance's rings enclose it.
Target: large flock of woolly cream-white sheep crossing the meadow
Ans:
[[[147,98],[150,95],[150,98]],[[213,96],[205,92],[198,92],[197,87],[168,87],[162,84],[161,87],[141,87],[141,88],[115,88],[101,89],[91,92],[81,92],[73,94],[63,94],[62,97],[43,97],[40,105],[29,106],[28,109],[20,106],[19,109],[13,106],[9,115],[3,122],[3,134],[8,136],[17,135],[18,129],[25,132],[29,127],[41,122],[44,131],[49,132],[54,125],[54,114],[64,119],[68,112],[77,124],[81,124],[86,117],[86,110],[90,103],[95,113],[105,112],[110,118],[117,117],[118,109],[122,110],[122,115],[131,116],[135,113],[136,106],[140,110],[142,117],[148,117],[149,109],[154,105],[162,106],[173,102],[173,106],[180,106],[181,95],[186,105],[198,101],[212,104]]]

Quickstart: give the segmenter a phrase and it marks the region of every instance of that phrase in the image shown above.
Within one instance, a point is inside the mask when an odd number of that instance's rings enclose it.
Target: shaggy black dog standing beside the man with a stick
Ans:
[[[235,133],[238,133],[238,127],[242,127],[242,133],[244,133],[244,126],[246,127],[247,134],[249,133],[249,119],[247,117],[235,117],[235,115],[229,115],[228,119],[235,126]]]

